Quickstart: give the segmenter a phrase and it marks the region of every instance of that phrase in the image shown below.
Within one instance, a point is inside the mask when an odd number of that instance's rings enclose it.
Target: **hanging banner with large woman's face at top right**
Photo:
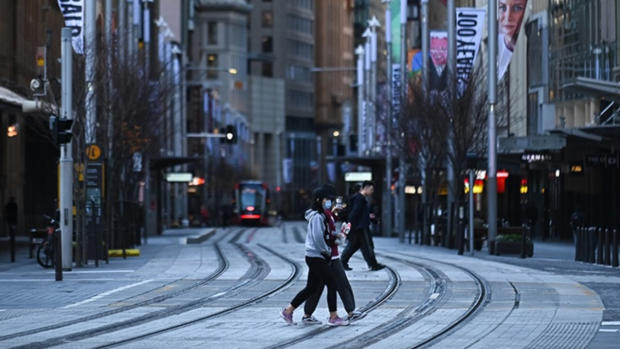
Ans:
[[[497,0],[497,81],[508,70],[527,5],[528,0]]]

